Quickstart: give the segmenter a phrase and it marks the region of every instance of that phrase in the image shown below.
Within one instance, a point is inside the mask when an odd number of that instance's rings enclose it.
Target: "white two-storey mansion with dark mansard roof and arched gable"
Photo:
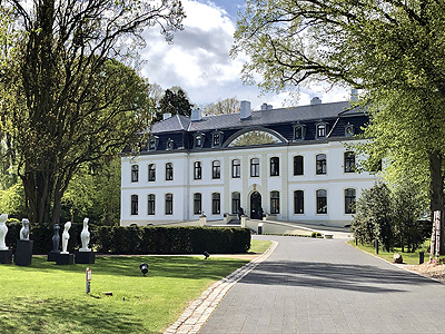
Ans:
[[[376,176],[356,173],[345,146],[368,118],[349,102],[191,118],[165,115],[138,156],[122,155],[121,222],[220,220],[243,210],[344,226]]]

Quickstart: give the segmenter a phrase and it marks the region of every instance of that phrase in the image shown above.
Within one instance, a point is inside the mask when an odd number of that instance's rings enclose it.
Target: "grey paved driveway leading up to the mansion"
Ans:
[[[445,333],[445,284],[343,240],[261,237],[278,247],[229,291],[200,334]]]

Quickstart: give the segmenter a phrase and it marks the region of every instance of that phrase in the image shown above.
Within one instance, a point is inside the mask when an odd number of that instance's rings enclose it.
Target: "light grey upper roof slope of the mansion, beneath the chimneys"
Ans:
[[[305,120],[318,120],[336,118],[339,115],[356,114],[357,109],[352,109],[348,101],[309,105],[293,108],[279,108],[271,110],[253,111],[248,119],[240,119],[239,114],[226,114],[202,117],[199,121],[190,121],[185,116],[174,116],[162,120],[152,127],[152,132],[166,131],[198,131],[226,128],[239,128],[246,126],[264,126],[283,122],[297,122]]]

